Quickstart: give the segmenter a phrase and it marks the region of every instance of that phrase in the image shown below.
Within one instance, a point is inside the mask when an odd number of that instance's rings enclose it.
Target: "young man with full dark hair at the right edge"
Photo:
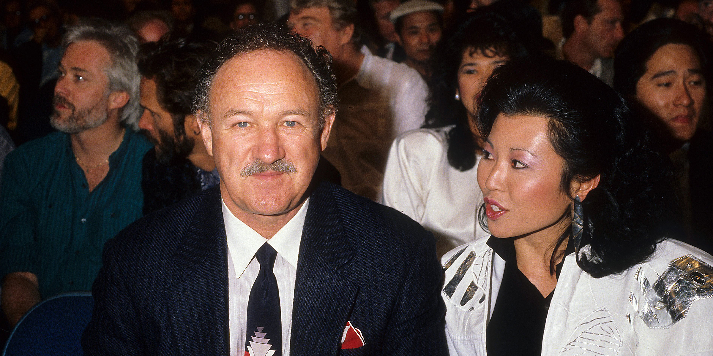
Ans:
[[[680,172],[675,212],[685,241],[713,253],[713,135],[699,127],[712,84],[710,51],[705,34],[688,23],[649,21],[617,48],[614,88],[662,124],[662,148]]]

